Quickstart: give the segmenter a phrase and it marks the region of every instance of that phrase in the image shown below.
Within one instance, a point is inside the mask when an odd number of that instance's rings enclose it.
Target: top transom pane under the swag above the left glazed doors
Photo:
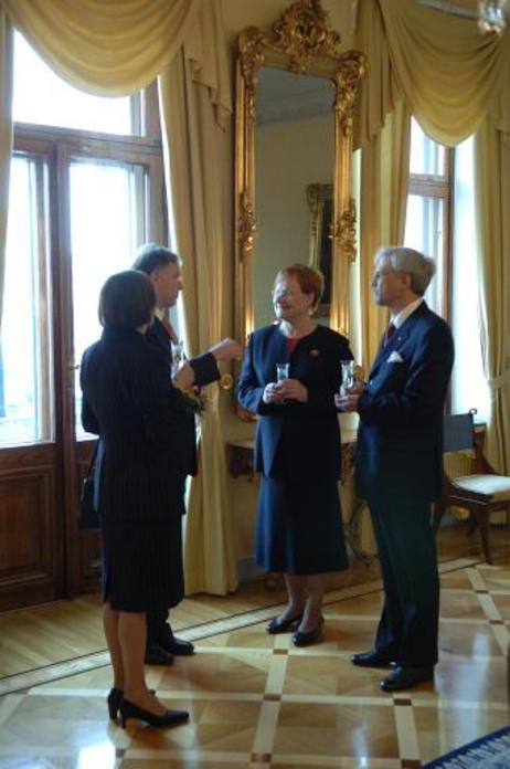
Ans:
[[[108,134],[134,134],[131,99],[93,96],[56,75],[14,34],[13,119],[20,123],[81,128]]]

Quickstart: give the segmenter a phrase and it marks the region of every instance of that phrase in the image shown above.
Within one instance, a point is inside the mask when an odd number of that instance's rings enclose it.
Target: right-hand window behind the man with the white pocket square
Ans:
[[[477,419],[487,421],[490,396],[478,319],[472,148],[472,138],[455,150],[442,147],[413,120],[404,244],[436,263],[436,275],[425,298],[450,323],[454,334],[451,411],[476,408]]]

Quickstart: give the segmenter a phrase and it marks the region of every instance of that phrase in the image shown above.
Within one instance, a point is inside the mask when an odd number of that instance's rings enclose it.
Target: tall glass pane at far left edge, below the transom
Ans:
[[[11,162],[0,358],[0,445],[53,439],[46,168]]]

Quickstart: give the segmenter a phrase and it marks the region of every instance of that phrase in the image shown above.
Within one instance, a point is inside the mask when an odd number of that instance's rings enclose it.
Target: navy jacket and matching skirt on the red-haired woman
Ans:
[[[262,475],[256,558],[270,571],[307,575],[346,568],[340,502],[340,430],[333,396],[340,361],[351,359],[347,339],[325,326],[301,337],[289,354],[278,325],[249,338],[238,400],[259,414],[255,466]],[[308,389],[308,402],[267,404],[276,364]]]

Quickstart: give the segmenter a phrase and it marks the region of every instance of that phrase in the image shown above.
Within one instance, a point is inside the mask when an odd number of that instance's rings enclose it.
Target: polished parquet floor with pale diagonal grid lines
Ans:
[[[350,653],[372,642],[382,600],[376,569],[328,593],[323,640],[308,649],[295,649],[287,634],[265,633],[279,593],[268,597],[257,588],[243,598],[240,591],[231,604],[236,611],[221,610],[220,599],[205,601],[210,619],[202,614],[181,631],[195,641],[193,657],[149,671],[150,684],[168,706],[190,712],[188,725],[158,730],[130,723],[124,730],[108,723],[110,672],[98,635],[91,653],[54,655],[33,670],[19,665],[4,672],[0,767],[411,768],[507,725],[510,537],[508,530],[497,533],[497,562],[488,566],[477,547],[463,552],[456,536],[443,535],[440,661],[434,685],[391,696],[379,688],[380,672],[349,663]],[[84,601],[85,618],[98,613],[95,601]],[[78,620],[70,610],[61,628],[56,608],[39,611],[67,654]],[[6,628],[17,626],[18,614],[0,618],[2,646]],[[79,622],[86,625],[84,617]],[[94,645],[92,639],[87,644]],[[29,662],[30,644],[26,650]]]

